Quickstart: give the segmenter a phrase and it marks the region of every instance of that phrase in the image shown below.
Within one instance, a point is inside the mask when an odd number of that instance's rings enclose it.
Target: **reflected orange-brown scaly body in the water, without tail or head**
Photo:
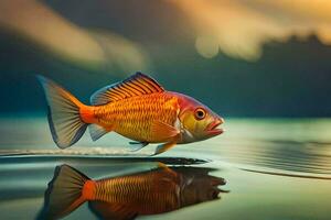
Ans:
[[[127,207],[127,211],[138,215],[161,213],[180,208],[180,176],[169,168],[161,168],[149,173],[90,180],[94,186],[83,188],[92,190],[92,198],[119,207]],[[111,209],[109,206],[108,209]]]

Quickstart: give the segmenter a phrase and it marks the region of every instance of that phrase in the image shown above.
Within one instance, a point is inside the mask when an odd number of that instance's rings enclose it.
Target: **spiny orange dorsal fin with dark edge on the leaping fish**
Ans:
[[[100,106],[110,101],[162,91],[164,89],[154,79],[138,72],[122,81],[106,86],[94,92],[90,97],[90,103]]]

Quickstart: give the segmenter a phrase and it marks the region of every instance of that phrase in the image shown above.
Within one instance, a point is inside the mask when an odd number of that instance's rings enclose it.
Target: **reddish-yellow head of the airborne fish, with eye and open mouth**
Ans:
[[[206,140],[224,132],[222,128],[218,128],[224,123],[224,119],[205,105],[191,97],[180,95],[179,106],[183,143]]]

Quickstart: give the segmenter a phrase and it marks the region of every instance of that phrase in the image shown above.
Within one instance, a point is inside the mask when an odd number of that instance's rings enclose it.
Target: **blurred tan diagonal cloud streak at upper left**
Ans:
[[[146,69],[149,59],[136,43],[106,31],[81,28],[36,0],[0,1],[0,29],[23,36],[50,54],[94,69]]]

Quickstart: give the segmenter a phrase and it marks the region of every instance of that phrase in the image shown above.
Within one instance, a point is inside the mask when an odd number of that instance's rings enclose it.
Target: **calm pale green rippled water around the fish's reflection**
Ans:
[[[228,119],[225,129],[224,135],[150,157],[153,145],[134,153],[128,140],[117,134],[97,142],[86,134],[75,146],[61,151],[51,140],[44,117],[3,118],[1,219],[36,218],[58,165],[104,179],[153,172],[160,163],[174,172],[191,167],[181,175],[193,175],[193,179],[224,179],[218,198],[138,219],[331,218],[331,120]],[[201,168],[211,169],[201,176]],[[195,187],[197,191],[205,188]],[[96,218],[85,202],[64,219]]]

